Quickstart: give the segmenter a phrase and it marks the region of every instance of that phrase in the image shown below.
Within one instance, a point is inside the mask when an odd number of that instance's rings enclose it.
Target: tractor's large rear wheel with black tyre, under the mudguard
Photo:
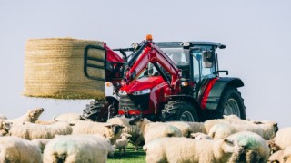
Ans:
[[[211,119],[221,119],[223,115],[232,114],[246,120],[246,107],[241,93],[237,91],[236,87],[227,86],[220,97],[217,110],[210,117]]]

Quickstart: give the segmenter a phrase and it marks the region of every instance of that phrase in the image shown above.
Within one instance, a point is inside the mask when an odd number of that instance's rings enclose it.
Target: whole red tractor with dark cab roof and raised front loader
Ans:
[[[155,43],[151,35],[132,48],[111,50],[88,46],[106,53],[104,66],[85,51],[85,76],[89,69],[104,68],[114,97],[87,105],[82,117],[105,121],[114,116],[147,118],[153,121],[205,121],[235,114],[246,119],[246,108],[237,88],[239,78],[220,77],[216,50],[226,45],[213,42]],[[122,53],[123,58],[117,53]],[[109,86],[108,84],[107,86]]]

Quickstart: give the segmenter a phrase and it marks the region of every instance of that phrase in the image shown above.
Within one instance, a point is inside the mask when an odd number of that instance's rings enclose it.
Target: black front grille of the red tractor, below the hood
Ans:
[[[148,110],[149,94],[146,95],[120,95],[119,110]]]

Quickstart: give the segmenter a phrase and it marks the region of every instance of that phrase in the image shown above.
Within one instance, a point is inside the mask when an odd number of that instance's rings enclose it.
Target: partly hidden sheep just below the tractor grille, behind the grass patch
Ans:
[[[144,137],[140,134],[140,129],[136,125],[130,125],[129,121],[130,119],[125,117],[114,117],[107,120],[108,123],[118,124],[125,127],[122,129],[122,132],[131,135],[128,139],[130,139],[130,141],[135,145],[135,151],[137,151],[138,146],[144,141]]]

